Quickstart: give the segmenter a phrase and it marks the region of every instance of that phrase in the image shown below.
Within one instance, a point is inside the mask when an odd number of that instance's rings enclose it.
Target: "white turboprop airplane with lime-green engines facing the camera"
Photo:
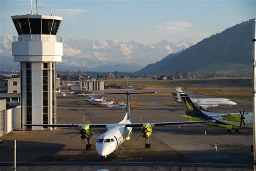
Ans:
[[[118,124],[54,124],[54,125],[36,125],[36,124],[24,124],[25,126],[48,126],[48,127],[74,127],[78,129],[76,135],[81,135],[80,138],[87,139],[86,149],[91,149],[90,138],[93,135],[93,128],[107,128],[107,131],[98,136],[95,143],[96,152],[101,156],[102,161],[106,161],[106,157],[112,152],[117,151],[117,148],[122,147],[122,143],[125,140],[130,140],[133,127],[141,127],[142,133],[139,135],[146,139],[145,148],[151,148],[149,138],[152,135],[153,126],[167,126],[167,125],[181,125],[181,124],[197,124],[204,122],[215,122],[214,120],[204,121],[180,121],[180,122],[152,122],[152,123],[132,123],[130,119],[130,94],[141,94],[142,92],[126,92],[127,96],[127,108],[126,114],[122,121]],[[143,92],[152,93],[152,92]],[[156,92],[153,92],[156,93]],[[105,94],[124,94],[124,93],[105,93]],[[84,120],[83,120],[84,122]],[[73,136],[76,136],[73,135]],[[73,137],[72,136],[72,137]]]

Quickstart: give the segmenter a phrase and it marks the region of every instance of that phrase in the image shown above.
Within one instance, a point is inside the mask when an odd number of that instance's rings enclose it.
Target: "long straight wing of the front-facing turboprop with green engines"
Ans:
[[[215,120],[204,121],[181,121],[181,122],[153,122],[152,126],[167,126],[167,125],[183,125],[183,124],[198,124],[204,122],[215,122]],[[24,124],[24,126],[48,126],[48,127],[63,127],[63,128],[75,128],[90,125],[91,128],[107,128],[113,126],[125,126],[125,127],[142,127],[146,123],[134,123],[134,124]]]

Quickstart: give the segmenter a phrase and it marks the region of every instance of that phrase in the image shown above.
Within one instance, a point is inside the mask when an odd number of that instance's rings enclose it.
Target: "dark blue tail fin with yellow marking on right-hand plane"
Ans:
[[[207,116],[193,104],[193,102],[191,101],[187,94],[180,94],[180,98],[186,115],[200,118]]]

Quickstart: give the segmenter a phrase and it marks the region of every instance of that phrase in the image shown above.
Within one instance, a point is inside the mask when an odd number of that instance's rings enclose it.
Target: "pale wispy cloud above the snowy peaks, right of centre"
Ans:
[[[192,25],[192,23],[188,22],[165,22],[161,26],[153,29],[152,32],[160,34],[180,33],[187,31]]]

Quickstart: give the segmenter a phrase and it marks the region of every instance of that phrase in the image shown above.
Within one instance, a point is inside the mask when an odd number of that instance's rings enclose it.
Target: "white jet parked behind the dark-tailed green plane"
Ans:
[[[176,92],[177,94],[172,94],[172,95],[177,102],[181,102],[180,94],[185,94],[185,93],[181,91],[180,87],[176,87]],[[206,110],[207,107],[224,106],[226,109],[227,106],[237,105],[235,102],[231,101],[230,99],[225,99],[225,98],[197,98],[197,99],[190,98],[190,99],[194,105],[204,110]]]

